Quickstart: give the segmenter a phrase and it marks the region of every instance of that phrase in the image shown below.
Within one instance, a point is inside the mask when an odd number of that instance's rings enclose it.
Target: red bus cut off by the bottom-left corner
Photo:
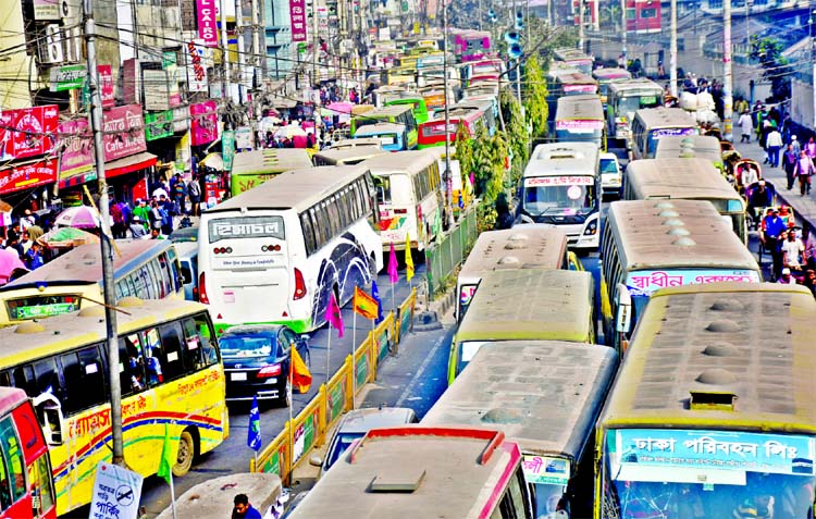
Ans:
[[[51,461],[28,396],[0,387],[0,519],[55,519]]]

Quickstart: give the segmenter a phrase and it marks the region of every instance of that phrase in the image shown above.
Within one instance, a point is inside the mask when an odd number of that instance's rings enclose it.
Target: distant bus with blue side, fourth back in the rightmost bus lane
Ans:
[[[630,157],[654,159],[663,137],[697,135],[697,122],[682,108],[648,108],[634,112]]]

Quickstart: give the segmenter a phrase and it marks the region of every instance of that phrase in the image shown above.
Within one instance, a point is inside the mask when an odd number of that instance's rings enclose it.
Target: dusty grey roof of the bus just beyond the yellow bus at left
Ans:
[[[169,239],[116,240],[121,255],[113,255],[113,277],[124,275],[173,247]],[[99,244],[86,244],[49,261],[39,269],[0,287],[3,292],[42,286],[82,285],[102,282],[102,252]]]

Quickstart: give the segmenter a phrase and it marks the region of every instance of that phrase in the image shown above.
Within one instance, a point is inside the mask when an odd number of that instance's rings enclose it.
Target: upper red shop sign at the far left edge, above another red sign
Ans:
[[[58,119],[57,104],[0,113],[0,159],[25,159],[53,151]]]

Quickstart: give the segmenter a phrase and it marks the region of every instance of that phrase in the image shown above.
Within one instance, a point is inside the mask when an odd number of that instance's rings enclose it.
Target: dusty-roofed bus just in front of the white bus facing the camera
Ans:
[[[485,231],[479,235],[456,279],[456,321],[461,322],[482,274],[494,270],[583,270],[567,249],[567,234],[556,227]]]

